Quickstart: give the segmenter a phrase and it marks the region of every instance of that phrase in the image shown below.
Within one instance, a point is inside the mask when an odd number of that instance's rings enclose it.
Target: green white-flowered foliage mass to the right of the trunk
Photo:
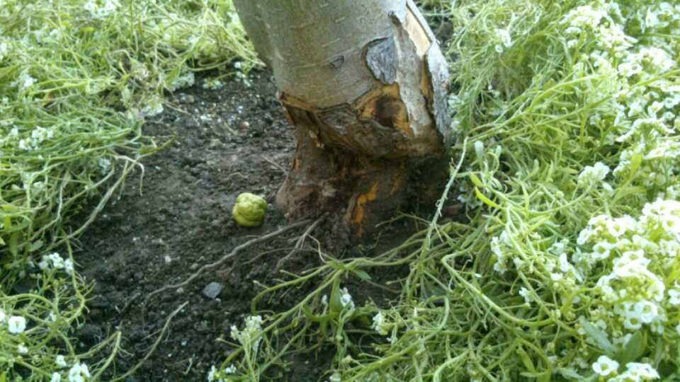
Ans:
[[[255,312],[265,296],[323,280],[263,316],[260,361],[249,360],[259,370],[234,377],[236,352],[220,378],[256,381],[324,346],[336,352],[330,381],[678,378],[680,7],[425,3],[453,25],[461,162],[449,187],[469,221],[435,217],[370,259],[321,253],[324,265],[254,301]],[[404,265],[388,306],[346,303],[337,314],[325,302],[342,280]]]

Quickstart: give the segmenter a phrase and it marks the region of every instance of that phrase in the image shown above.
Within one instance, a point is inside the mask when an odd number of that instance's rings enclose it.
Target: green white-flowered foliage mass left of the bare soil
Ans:
[[[0,378],[96,378],[111,363],[120,333],[84,354],[71,345],[87,288],[70,255],[53,252],[69,252],[162,148],[142,125],[165,93],[193,84],[195,71],[257,64],[231,1],[0,1],[0,311],[27,323],[12,333],[0,320]],[[67,227],[76,214],[84,224]],[[112,342],[106,361],[81,364]]]

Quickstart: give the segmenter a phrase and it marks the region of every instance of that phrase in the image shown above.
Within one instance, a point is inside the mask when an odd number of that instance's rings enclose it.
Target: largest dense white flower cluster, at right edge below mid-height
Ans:
[[[601,272],[596,293],[612,308],[613,329],[663,333],[671,311],[680,312],[676,286],[667,284],[680,264],[680,202],[649,203],[639,219],[595,216],[578,243],[591,248],[576,259],[584,272]]]

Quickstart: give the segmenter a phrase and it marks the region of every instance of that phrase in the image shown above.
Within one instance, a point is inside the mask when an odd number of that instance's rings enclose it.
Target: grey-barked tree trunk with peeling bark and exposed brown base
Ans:
[[[448,170],[448,69],[409,0],[234,0],[297,128],[277,195],[357,236],[430,203]]]

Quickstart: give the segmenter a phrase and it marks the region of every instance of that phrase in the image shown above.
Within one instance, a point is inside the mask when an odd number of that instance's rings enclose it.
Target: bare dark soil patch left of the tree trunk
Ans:
[[[150,292],[183,282],[235,246],[288,224],[273,200],[290,167],[295,139],[274,94],[266,74],[255,75],[250,87],[230,82],[219,91],[189,88],[174,94],[171,108],[146,125],[146,134],[157,141],[175,136],[176,141],[143,163],[142,184],[139,177],[128,180],[120,198],[79,239],[76,253],[82,273],[94,281],[90,313],[77,332],[81,346],[87,349],[117,330],[123,333],[124,351],[105,381],[143,359],[169,315],[185,302],[155,352],[128,381],[205,381],[210,367],[219,366],[232,351],[219,339],[230,341],[231,325],[242,327],[260,291],[254,281],[272,284],[280,277],[277,262],[304,227],[246,248],[236,260],[143,304]],[[263,226],[242,228],[232,221],[231,209],[241,192],[270,202]],[[314,236],[322,239],[329,229],[320,226]],[[312,253],[298,253],[286,269],[296,272],[318,261]],[[223,289],[210,298],[203,289],[213,282]],[[292,306],[304,293],[287,294],[266,308]],[[290,377],[278,381],[327,378],[327,366],[327,357],[295,359]]]

